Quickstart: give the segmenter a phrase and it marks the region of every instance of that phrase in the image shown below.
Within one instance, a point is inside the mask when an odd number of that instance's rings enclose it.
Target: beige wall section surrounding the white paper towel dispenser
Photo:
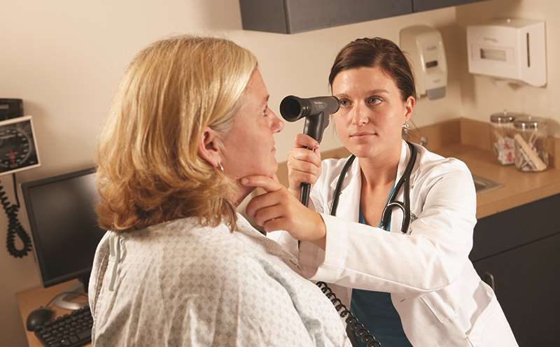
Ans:
[[[457,24],[461,27],[461,100],[463,115],[489,120],[491,113],[507,109],[538,115],[551,120],[551,134],[560,137],[560,1],[556,0],[492,0],[459,6]],[[547,85],[545,87],[512,87],[495,83],[491,78],[468,73],[465,25],[494,17],[519,17],[543,20],[546,25]]]

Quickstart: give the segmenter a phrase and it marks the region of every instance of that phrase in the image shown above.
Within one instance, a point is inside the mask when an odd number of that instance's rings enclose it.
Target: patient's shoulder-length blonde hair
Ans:
[[[248,50],[209,37],[168,38],[134,57],[97,148],[99,225],[128,231],[194,216],[233,229],[235,183],[198,146],[206,127],[231,129],[256,66]]]

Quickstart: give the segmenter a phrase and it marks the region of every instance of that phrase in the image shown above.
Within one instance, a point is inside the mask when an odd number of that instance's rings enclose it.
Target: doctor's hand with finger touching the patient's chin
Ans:
[[[294,239],[324,245],[326,227],[321,215],[304,206],[277,180],[246,176],[241,178],[241,184],[265,190],[265,194],[253,197],[245,210],[265,232],[286,230]]]

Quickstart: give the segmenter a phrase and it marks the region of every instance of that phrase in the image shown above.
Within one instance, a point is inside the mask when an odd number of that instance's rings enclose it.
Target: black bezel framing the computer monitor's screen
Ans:
[[[47,178],[41,178],[39,180],[32,180],[29,182],[25,182],[21,184],[21,190],[22,190],[22,194],[24,197],[24,203],[25,203],[25,210],[27,212],[27,220],[29,222],[29,227],[31,229],[31,239],[33,239],[33,250],[34,250],[34,254],[36,257],[36,262],[37,262],[37,266],[39,268],[39,272],[41,274],[41,282],[43,283],[43,287],[47,288],[50,287],[52,285],[57,285],[59,283],[63,283],[69,280],[72,280],[74,278],[79,278],[80,280],[87,280],[87,278],[83,278],[84,276],[89,276],[90,272],[92,271],[92,267],[89,267],[87,269],[81,269],[80,271],[74,271],[70,274],[66,274],[65,276],[59,276],[59,277],[55,277],[55,278],[49,278],[48,280],[45,280],[45,276],[47,274],[45,274],[45,269],[43,268],[43,264],[45,264],[46,259],[45,256],[43,255],[42,252],[42,248],[41,248],[41,237],[39,237],[38,235],[38,228],[36,225],[36,220],[35,220],[35,214],[33,211],[33,206],[31,206],[31,199],[29,196],[29,190],[33,187],[37,187],[39,185],[45,185],[48,183],[54,183],[57,181],[61,181],[61,180],[68,180],[70,178],[78,178],[80,176],[87,176],[89,174],[94,174],[96,172],[96,169],[94,167],[88,168],[88,169],[83,169],[83,170],[78,170],[78,171],[73,171],[73,172],[69,172],[67,174],[62,174],[62,175],[57,175],[57,176],[51,176],[51,177],[47,177]],[[93,262],[92,262],[93,264]]]

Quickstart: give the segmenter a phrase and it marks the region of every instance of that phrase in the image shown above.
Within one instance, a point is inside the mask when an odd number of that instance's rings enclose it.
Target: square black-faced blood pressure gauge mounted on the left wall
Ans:
[[[0,122],[0,175],[40,166],[31,116]]]

